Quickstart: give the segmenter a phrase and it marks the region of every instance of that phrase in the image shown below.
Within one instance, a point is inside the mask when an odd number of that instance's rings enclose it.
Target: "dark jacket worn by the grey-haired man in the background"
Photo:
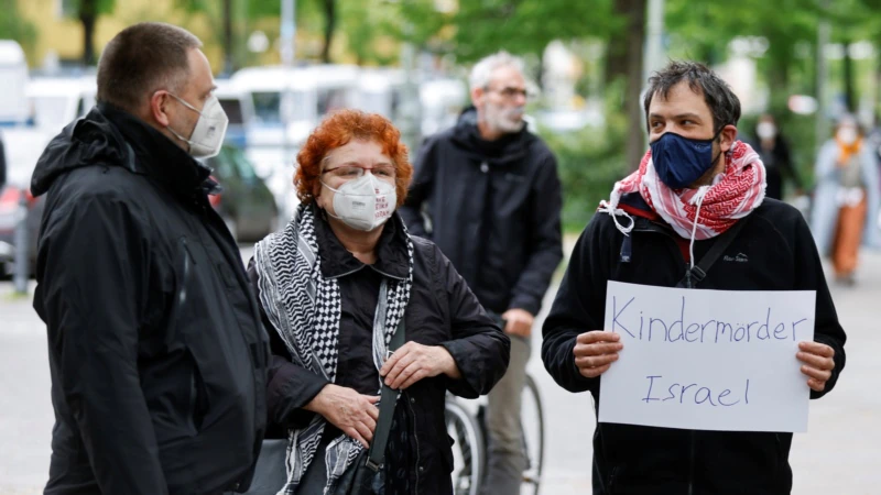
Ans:
[[[425,141],[414,168],[401,208],[410,231],[440,248],[485,308],[537,315],[563,258],[563,199],[551,150],[525,128],[483,141],[470,108],[456,127]]]

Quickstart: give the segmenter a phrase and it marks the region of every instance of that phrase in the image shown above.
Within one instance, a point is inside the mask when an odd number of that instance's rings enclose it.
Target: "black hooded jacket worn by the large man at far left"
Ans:
[[[209,170],[101,105],[50,143],[34,308],[55,428],[46,494],[243,491],[268,340]]]

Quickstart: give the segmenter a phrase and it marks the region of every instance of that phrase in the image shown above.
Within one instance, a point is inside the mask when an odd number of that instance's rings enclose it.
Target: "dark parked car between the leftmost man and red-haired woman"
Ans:
[[[211,198],[211,205],[237,241],[255,242],[275,231],[279,220],[275,198],[240,148],[224,146],[206,164],[222,188]]]

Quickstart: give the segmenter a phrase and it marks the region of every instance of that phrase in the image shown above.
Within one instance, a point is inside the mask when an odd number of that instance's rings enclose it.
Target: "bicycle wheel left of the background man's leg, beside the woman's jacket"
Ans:
[[[447,399],[444,411],[447,435],[453,438],[453,493],[478,495],[486,459],[483,435],[475,418],[454,399]]]

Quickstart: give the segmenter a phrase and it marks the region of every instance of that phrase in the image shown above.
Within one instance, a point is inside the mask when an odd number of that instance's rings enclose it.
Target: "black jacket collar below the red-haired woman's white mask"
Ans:
[[[410,255],[406,249],[406,232],[403,221],[394,213],[382,227],[382,234],[377,243],[377,262],[366,265],[346,251],[339,242],[323,209],[313,205],[315,213],[315,235],[322,251],[322,275],[325,278],[339,278],[369,266],[377,273],[400,280],[410,275]]]

